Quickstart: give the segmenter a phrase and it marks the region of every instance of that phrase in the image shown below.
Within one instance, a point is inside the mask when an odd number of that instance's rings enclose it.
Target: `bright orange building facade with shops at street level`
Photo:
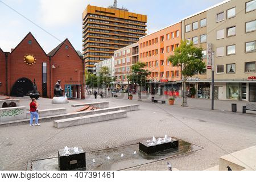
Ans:
[[[151,72],[143,91],[151,94],[179,96],[180,68],[172,67],[168,57],[174,54],[181,41],[181,23],[175,23],[139,39],[139,61]]]

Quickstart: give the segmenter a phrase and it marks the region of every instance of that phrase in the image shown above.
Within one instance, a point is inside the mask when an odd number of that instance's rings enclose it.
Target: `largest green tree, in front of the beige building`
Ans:
[[[168,57],[168,61],[174,67],[181,68],[181,75],[183,76],[183,104],[187,105],[187,89],[186,81],[188,77],[192,77],[198,73],[205,72],[205,63],[203,62],[203,48],[193,46],[192,42],[181,40],[180,46],[174,51],[174,55]]]

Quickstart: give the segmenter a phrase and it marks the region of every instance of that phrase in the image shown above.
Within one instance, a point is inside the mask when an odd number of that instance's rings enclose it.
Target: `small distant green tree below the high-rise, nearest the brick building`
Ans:
[[[106,95],[106,89],[112,85],[113,81],[115,81],[115,78],[112,78],[109,67],[101,67],[99,76],[98,76],[98,86],[99,88],[104,86],[105,95]]]

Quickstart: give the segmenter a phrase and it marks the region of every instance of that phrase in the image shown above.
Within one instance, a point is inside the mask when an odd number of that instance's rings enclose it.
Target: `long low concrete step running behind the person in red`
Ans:
[[[139,110],[139,105],[126,105],[126,106],[117,106],[117,107],[109,107],[105,109],[97,109],[94,111],[82,111],[82,112],[75,112],[75,113],[67,113],[67,114],[59,114],[59,115],[50,115],[47,117],[40,117],[39,115],[39,122],[52,122],[59,119],[67,119],[67,118],[75,118],[75,117],[82,117],[85,115],[93,115],[93,114],[101,114],[101,113],[108,113],[111,111],[118,111],[118,110],[125,110],[135,111]],[[8,121],[8,122],[0,122],[0,127],[3,126],[13,126],[13,125],[26,125],[29,124],[30,119],[20,119],[15,121]]]

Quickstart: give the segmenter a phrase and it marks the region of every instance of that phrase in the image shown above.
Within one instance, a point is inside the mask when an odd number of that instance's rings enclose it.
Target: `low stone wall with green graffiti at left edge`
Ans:
[[[0,122],[14,121],[27,118],[26,107],[7,107],[0,109]]]

